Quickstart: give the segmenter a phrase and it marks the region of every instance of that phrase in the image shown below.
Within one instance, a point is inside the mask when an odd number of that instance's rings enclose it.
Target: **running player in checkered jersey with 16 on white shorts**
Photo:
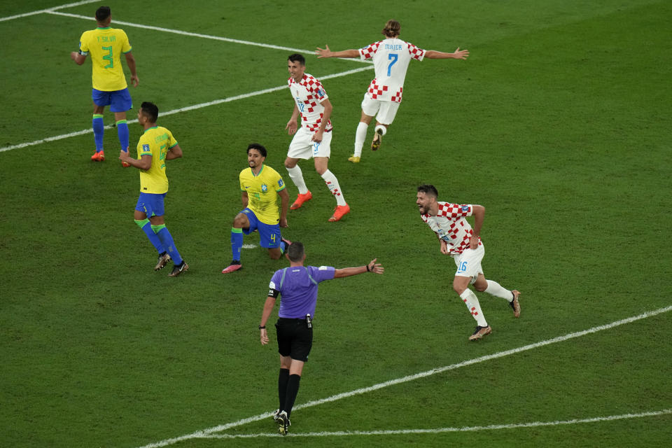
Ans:
[[[429,225],[439,238],[441,253],[451,255],[455,260],[457,271],[453,279],[453,289],[467,305],[471,315],[476,319],[475,332],[469,337],[476,341],[489,335],[492,328],[485,320],[481,305],[476,294],[469,289],[471,283],[479,293],[488,293],[501,297],[509,302],[515,317],[520,316],[520,304],[517,290],[507,290],[493,280],[486,280],[481,267],[485,254],[483,242],[479,237],[485,208],[480,205],[451,204],[438,202],[438,192],[433,185],[418,187],[416,204],[420,210],[422,221]],[[474,216],[474,228],[465,219]]]

